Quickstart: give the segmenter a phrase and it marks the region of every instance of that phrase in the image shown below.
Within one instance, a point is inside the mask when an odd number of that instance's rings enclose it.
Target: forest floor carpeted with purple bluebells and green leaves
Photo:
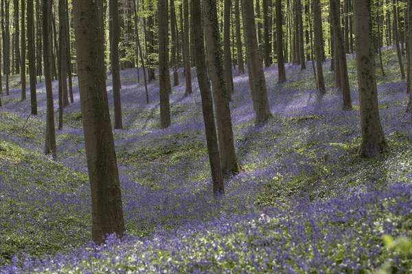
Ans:
[[[127,235],[96,247],[77,79],[74,104],[56,131],[57,161],[43,156],[45,85],[39,115],[20,102],[19,77],[0,109],[0,273],[412,273],[412,144],[408,95],[393,48],[382,50],[380,117],[388,149],[360,159],[354,55],[351,111],[341,93],[315,89],[308,69],[265,69],[273,119],[255,126],[247,73],[233,71],[231,102],[242,171],[215,198],[201,98],[170,96],[172,126],[160,129],[159,84],[150,104],[137,69],[121,71],[124,130],[114,130]],[[193,71],[194,73],[194,71]],[[140,78],[141,78],[140,71]],[[195,73],[194,73],[195,75]],[[142,79],[142,78],[141,78]],[[58,82],[53,83],[57,111]],[[107,79],[111,114],[113,93]],[[28,92],[29,93],[29,92]],[[57,124],[57,122],[56,122]]]

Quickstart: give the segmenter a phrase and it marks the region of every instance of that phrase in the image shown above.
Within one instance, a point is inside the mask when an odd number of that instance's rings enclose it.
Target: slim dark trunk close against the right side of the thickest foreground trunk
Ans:
[[[119,7],[118,0],[109,1],[112,15],[112,35],[110,41],[111,47],[111,72],[113,79],[113,101],[115,105],[115,128],[122,129],[122,102],[120,101],[120,68],[119,68]]]

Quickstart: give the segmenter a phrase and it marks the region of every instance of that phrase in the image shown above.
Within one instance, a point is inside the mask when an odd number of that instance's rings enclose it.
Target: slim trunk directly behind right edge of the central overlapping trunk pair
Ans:
[[[230,7],[231,0],[225,0],[225,19],[223,26],[223,59],[225,63],[225,82],[227,95],[231,101],[232,86],[232,71],[231,71],[231,54],[230,54]]]

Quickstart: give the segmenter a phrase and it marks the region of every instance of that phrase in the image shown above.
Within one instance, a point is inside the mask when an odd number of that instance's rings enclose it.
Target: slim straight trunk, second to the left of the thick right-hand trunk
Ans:
[[[313,20],[314,20],[314,47],[316,52],[316,67],[317,67],[317,85],[319,91],[325,92],[325,80],[323,78],[322,67],[322,19],[321,19],[321,6],[319,0],[313,1]]]

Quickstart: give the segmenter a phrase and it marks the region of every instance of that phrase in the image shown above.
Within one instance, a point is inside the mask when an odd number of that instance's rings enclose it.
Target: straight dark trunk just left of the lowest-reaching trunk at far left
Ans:
[[[30,106],[32,115],[37,115],[36,56],[34,54],[34,8],[33,1],[27,1],[27,58],[29,59]]]

